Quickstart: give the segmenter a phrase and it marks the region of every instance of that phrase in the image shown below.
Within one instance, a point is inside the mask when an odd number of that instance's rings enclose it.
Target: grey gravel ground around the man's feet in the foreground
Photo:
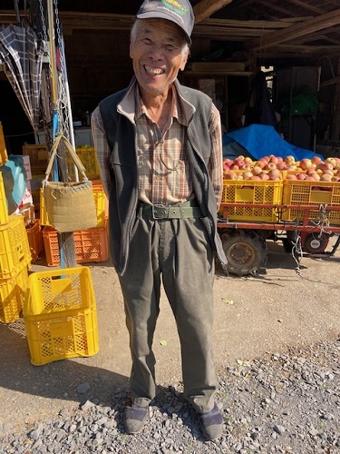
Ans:
[[[62,409],[23,433],[11,433],[15,421],[0,424],[0,453],[340,453],[339,354],[340,339],[219,370],[225,430],[216,442],[201,437],[180,383],[160,386],[150,420],[131,436],[122,423],[127,390],[102,402],[83,382],[78,409]]]

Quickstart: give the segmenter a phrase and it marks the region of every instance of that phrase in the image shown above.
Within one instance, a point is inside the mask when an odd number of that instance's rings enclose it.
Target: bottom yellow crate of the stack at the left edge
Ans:
[[[14,278],[0,281],[0,321],[12,323],[20,318],[27,285],[28,272],[26,266]]]

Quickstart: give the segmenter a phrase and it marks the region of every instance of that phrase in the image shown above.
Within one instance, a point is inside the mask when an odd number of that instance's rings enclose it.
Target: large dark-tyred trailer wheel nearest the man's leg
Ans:
[[[266,240],[257,232],[237,229],[223,233],[221,240],[232,274],[255,274],[267,260]]]

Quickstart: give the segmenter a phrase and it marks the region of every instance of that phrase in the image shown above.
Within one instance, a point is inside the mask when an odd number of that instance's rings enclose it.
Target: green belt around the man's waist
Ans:
[[[138,214],[153,220],[161,219],[182,219],[182,218],[201,218],[202,212],[199,206],[192,206],[197,202],[183,202],[175,205],[151,205],[140,202],[138,205]]]

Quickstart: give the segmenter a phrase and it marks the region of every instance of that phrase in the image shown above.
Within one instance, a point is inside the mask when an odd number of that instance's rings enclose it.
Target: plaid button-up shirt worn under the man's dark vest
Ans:
[[[172,113],[163,131],[153,123],[142,102],[138,84],[134,88],[134,112],[137,128],[139,199],[141,202],[170,205],[192,197],[192,181],[186,152],[186,127],[189,122],[172,85]],[[194,114],[191,104],[190,114]],[[211,153],[209,175],[215,189],[217,206],[222,192],[222,144],[219,111],[212,106],[209,118]],[[102,126],[99,107],[92,114],[92,135],[107,196],[110,192],[110,146]]]

